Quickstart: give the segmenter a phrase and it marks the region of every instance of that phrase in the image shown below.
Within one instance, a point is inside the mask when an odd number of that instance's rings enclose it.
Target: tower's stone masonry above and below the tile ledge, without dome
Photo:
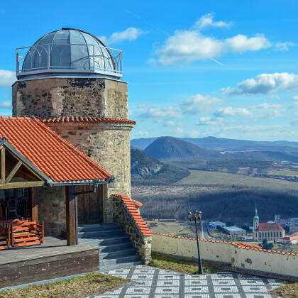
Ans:
[[[128,118],[126,82],[104,78],[44,78],[13,84],[13,115]],[[112,221],[112,192],[131,195],[132,123],[45,123],[115,177],[104,191],[104,222]]]

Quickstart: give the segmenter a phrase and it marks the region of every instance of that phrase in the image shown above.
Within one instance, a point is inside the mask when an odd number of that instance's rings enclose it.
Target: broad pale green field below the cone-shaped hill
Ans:
[[[208,172],[199,170],[190,170],[190,172],[191,175],[175,184],[234,184],[247,187],[266,187],[269,189],[298,189],[298,182],[289,182],[274,178],[250,177],[223,172]]]

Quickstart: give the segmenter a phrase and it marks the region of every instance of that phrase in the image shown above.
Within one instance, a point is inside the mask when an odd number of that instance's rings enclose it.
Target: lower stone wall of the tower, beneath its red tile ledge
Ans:
[[[131,195],[131,138],[128,123],[46,123],[57,134],[114,175],[104,195],[104,222],[111,222],[112,193]]]

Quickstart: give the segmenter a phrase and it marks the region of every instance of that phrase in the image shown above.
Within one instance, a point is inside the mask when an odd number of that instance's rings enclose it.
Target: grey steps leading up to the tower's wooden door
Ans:
[[[79,243],[99,248],[100,272],[142,264],[136,249],[119,224],[79,225]]]

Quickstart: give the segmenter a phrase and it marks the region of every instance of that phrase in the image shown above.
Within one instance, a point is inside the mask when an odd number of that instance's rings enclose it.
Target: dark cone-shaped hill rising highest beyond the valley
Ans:
[[[223,158],[223,154],[215,150],[206,150],[184,140],[172,137],[160,137],[153,141],[144,152],[158,160],[214,160]]]

